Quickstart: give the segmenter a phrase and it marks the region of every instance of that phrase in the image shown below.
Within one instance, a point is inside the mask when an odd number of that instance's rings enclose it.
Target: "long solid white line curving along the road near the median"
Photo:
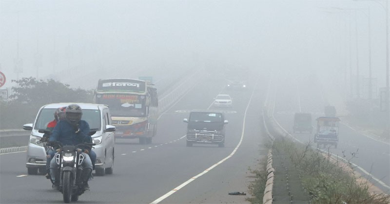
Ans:
[[[257,85],[257,83],[256,83]],[[254,87],[256,87],[256,85]],[[249,99],[249,102],[248,102],[248,105],[247,105],[247,108],[245,109],[245,114],[244,114],[244,119],[243,119],[243,124],[242,124],[242,133],[241,133],[241,138],[240,138],[240,141],[238,142],[237,146],[234,148],[233,152],[229,154],[229,156],[225,157],[224,159],[220,160],[219,162],[217,162],[216,164],[214,164],[213,166],[209,167],[208,169],[204,170],[203,172],[199,173],[198,175],[190,178],[189,180],[187,180],[186,182],[182,183],[180,186],[174,188],[173,190],[169,191],[168,193],[166,193],[165,195],[157,198],[155,201],[153,201],[151,204],[158,204],[160,203],[161,201],[163,201],[164,199],[168,198],[169,196],[171,196],[172,194],[174,194],[176,191],[180,190],[182,187],[185,187],[187,186],[189,183],[193,182],[195,179],[199,178],[200,176],[202,176],[203,174],[209,172],[210,170],[214,169],[216,166],[222,164],[224,161],[226,161],[227,159],[229,159],[230,157],[232,157],[234,155],[234,153],[236,153],[237,149],[240,147],[241,143],[242,143],[242,140],[244,138],[244,133],[245,133],[245,119],[247,117],[247,111],[248,111],[248,108],[249,108],[249,105],[251,104],[251,101],[252,101],[252,98],[253,98],[253,95],[254,95],[254,90],[252,91],[252,95],[251,95],[251,98]]]

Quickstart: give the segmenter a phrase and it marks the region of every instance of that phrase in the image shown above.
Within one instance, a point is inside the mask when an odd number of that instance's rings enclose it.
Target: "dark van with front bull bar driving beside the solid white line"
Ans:
[[[199,110],[191,111],[189,119],[183,119],[187,125],[187,147],[195,143],[217,144],[225,146],[225,120],[223,112]]]

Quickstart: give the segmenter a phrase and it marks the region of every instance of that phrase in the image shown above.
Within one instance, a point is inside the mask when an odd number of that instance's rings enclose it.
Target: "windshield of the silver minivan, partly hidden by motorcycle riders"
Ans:
[[[54,108],[44,108],[40,111],[37,122],[35,123],[34,129],[46,129],[47,124],[50,121],[54,120]],[[82,118],[87,121],[90,129],[101,129],[101,119],[100,119],[100,111],[99,110],[90,110],[83,109],[82,110]]]

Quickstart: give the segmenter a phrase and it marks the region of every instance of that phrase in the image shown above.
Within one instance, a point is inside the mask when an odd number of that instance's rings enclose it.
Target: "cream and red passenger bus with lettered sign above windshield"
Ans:
[[[158,97],[154,84],[137,79],[100,79],[95,102],[110,107],[115,138],[152,143],[156,136]]]

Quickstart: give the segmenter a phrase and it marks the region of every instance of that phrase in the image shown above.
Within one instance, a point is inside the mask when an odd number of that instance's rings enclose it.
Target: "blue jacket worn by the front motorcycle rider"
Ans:
[[[50,136],[50,141],[59,141],[63,145],[77,145],[80,143],[92,143],[92,137],[88,135],[90,128],[88,122],[80,120],[78,122],[80,132],[75,133],[73,126],[66,120],[60,120]],[[82,148],[84,149],[84,148]]]

